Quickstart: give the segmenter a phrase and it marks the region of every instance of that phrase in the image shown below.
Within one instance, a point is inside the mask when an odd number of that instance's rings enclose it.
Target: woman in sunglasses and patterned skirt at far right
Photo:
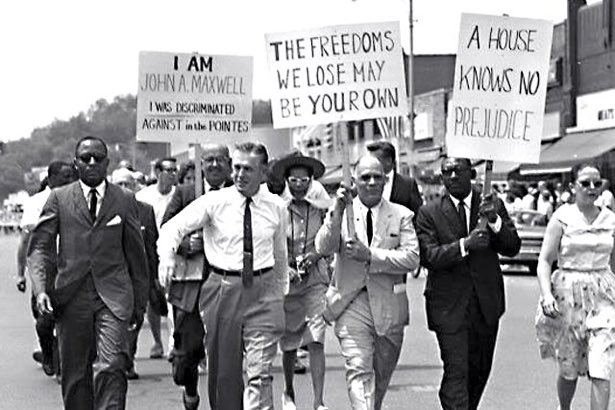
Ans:
[[[615,214],[594,204],[603,184],[594,165],[578,165],[572,176],[575,201],[553,214],[538,258],[536,331],[541,356],[559,364],[560,409],[570,408],[579,376],[591,381],[591,409],[607,409],[615,362]]]

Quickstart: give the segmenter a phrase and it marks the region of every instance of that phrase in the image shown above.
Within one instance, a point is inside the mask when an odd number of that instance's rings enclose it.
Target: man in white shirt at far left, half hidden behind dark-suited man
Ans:
[[[39,216],[51,190],[77,180],[77,171],[68,162],[54,161],[47,168],[47,187],[32,195],[24,204],[21,217],[21,240],[17,248],[17,290],[26,291],[26,250],[30,233],[38,223]],[[50,283],[48,284],[50,285]],[[41,346],[41,365],[46,375],[59,374],[57,361],[57,340],[54,336],[55,320],[51,315],[41,315],[36,309],[36,298],[32,294],[32,315],[36,320],[36,335]]]

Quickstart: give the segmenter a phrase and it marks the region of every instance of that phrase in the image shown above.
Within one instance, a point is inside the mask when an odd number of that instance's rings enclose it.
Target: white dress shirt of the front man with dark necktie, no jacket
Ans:
[[[219,269],[243,269],[243,215],[246,198],[236,187],[208,192],[164,224],[158,239],[160,267],[174,266],[174,256],[184,235],[203,229],[209,263]],[[267,189],[259,189],[250,204],[254,270],[274,267],[288,286],[286,207]]]

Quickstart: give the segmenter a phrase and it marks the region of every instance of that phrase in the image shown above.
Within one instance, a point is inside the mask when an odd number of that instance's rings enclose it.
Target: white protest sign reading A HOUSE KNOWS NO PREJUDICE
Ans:
[[[463,14],[459,31],[448,154],[537,163],[553,24]]]

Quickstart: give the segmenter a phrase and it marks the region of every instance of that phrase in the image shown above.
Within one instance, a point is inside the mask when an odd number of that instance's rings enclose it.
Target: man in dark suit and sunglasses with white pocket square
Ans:
[[[127,331],[147,298],[137,202],[106,182],[108,164],[103,140],[77,143],[79,181],[51,192],[28,249],[37,307],[57,317],[66,409],[126,407]]]

